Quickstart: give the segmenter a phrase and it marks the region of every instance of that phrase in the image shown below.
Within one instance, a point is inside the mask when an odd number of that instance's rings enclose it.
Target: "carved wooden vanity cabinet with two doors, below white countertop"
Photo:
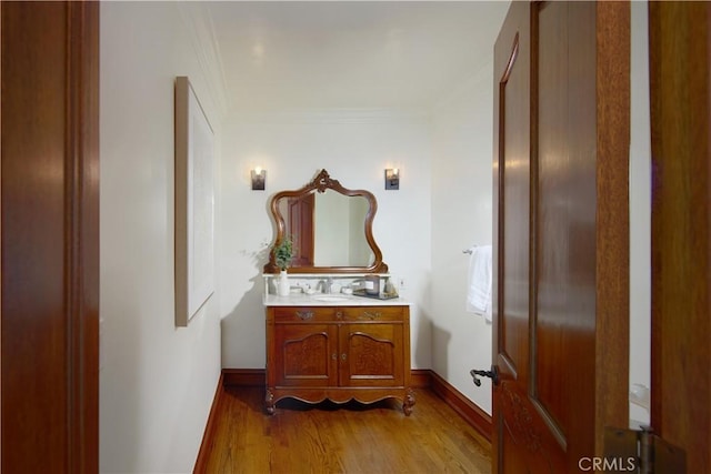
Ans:
[[[393,397],[412,412],[409,306],[268,306],[267,412],[309,403]]]

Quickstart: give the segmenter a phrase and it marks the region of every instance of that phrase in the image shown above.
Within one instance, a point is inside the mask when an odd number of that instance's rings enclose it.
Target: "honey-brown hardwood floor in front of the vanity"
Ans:
[[[283,400],[264,413],[263,389],[224,387],[204,473],[491,472],[491,445],[434,393],[400,404]]]

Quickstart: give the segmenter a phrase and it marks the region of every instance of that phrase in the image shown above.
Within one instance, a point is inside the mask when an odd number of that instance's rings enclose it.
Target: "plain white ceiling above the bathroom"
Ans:
[[[509,2],[207,6],[228,109],[264,111],[430,107],[490,57]]]

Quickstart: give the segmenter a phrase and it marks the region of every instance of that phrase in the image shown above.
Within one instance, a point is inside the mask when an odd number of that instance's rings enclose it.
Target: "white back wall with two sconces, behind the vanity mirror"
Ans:
[[[222,366],[264,367],[261,271],[273,239],[269,199],[299,189],[326,169],[349,189],[378,200],[373,234],[383,260],[402,275],[412,301],[413,367],[431,367],[431,139],[417,111],[328,110],[242,117],[222,134],[218,236]],[[251,191],[249,171],[267,170],[267,190]],[[400,168],[399,191],[384,190],[384,169]]]

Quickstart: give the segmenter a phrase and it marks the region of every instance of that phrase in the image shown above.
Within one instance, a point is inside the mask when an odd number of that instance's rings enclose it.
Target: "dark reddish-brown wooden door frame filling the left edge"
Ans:
[[[1,471],[99,471],[99,4],[2,2]]]

